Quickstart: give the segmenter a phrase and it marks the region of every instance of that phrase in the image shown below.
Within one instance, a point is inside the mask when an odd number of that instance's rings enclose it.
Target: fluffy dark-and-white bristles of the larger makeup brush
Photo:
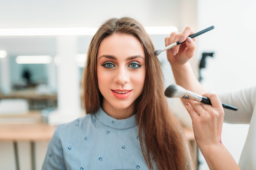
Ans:
[[[179,85],[169,85],[165,91],[164,95],[169,98],[182,98],[186,94],[186,89]]]

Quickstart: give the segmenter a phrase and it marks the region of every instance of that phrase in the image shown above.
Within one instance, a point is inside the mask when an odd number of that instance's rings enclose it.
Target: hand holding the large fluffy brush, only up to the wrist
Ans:
[[[204,94],[210,98],[212,105],[188,100],[186,109],[192,119],[195,141],[200,149],[221,144],[221,132],[224,109],[216,94]]]

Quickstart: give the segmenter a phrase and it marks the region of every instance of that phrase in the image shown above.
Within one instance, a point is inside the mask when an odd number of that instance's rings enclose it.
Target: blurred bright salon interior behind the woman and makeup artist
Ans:
[[[191,59],[209,92],[256,84],[251,0],[0,0],[0,170],[40,170],[54,127],[84,116],[81,76],[97,28],[110,17],[130,16],[156,49],[164,37],[191,26],[198,32]],[[166,86],[175,83],[165,52],[159,55]],[[204,65],[200,66],[200,62]],[[180,99],[168,99],[184,127],[191,119]],[[222,143],[238,162],[249,125],[224,123]],[[198,154],[200,170],[208,170]]]

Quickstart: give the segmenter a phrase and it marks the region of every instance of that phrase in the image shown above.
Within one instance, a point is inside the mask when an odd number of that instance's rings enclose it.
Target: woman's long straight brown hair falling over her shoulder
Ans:
[[[83,104],[87,113],[96,113],[103,96],[97,82],[97,52],[102,39],[114,33],[137,37],[145,51],[146,77],[144,90],[136,100],[141,151],[150,170],[193,169],[182,128],[168,108],[164,96],[161,64],[154,55],[154,46],[144,27],[130,17],[111,18],[92,38],[83,76]]]

